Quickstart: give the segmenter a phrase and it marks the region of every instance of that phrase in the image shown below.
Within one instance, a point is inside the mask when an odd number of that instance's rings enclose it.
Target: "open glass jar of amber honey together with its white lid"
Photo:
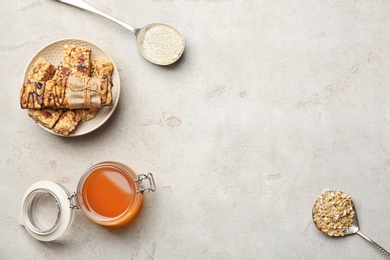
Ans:
[[[31,185],[22,199],[19,222],[41,241],[59,238],[72,224],[75,209],[99,225],[121,226],[137,215],[144,192],[155,190],[151,173],[137,175],[123,163],[101,162],[84,173],[73,194],[51,181]]]

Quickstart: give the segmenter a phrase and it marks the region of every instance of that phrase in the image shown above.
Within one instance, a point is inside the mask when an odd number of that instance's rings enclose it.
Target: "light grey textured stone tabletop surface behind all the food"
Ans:
[[[358,236],[313,225],[324,188],[350,194],[362,232],[390,249],[390,2],[88,1],[186,38],[172,67],[137,53],[104,18],[49,0],[1,1],[1,259],[381,259]],[[49,42],[105,49],[121,77],[113,117],[80,138],[19,107],[24,67]],[[17,222],[39,180],[74,191],[105,160],[153,172],[158,190],[121,229],[76,212],[58,241]]]

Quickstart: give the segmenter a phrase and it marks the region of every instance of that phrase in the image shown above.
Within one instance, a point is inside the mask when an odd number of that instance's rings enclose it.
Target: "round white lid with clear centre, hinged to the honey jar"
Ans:
[[[55,240],[73,221],[72,197],[58,183],[36,182],[24,193],[19,222],[34,238],[41,241]]]

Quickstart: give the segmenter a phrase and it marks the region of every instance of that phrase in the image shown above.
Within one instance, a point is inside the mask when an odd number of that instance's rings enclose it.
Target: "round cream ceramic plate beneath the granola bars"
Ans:
[[[30,71],[31,67],[34,65],[34,62],[39,57],[46,59],[48,62],[53,64],[55,67],[57,67],[58,64],[60,64],[60,62],[63,59],[62,55],[63,55],[64,46],[66,44],[76,44],[83,47],[89,47],[92,50],[92,58],[99,58],[101,60],[109,61],[112,62],[112,64],[114,64],[114,71],[112,73],[112,105],[101,107],[94,119],[84,123],[79,123],[76,129],[67,136],[67,137],[72,137],[72,136],[80,136],[80,135],[90,133],[93,130],[99,128],[110,118],[116,106],[118,105],[119,94],[120,94],[120,79],[119,79],[119,73],[115,66],[115,63],[102,48],[100,48],[96,44],[93,44],[88,41],[80,40],[80,39],[62,39],[62,40],[49,43],[32,57],[32,59],[30,60],[30,62],[26,67],[26,70],[24,71],[23,83],[26,82],[28,72]],[[38,125],[54,135],[63,136],[54,133],[51,129],[46,128],[40,125],[39,123]]]

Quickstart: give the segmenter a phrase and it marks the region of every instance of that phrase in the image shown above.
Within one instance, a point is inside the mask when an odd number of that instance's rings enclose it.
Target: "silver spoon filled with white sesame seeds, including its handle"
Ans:
[[[185,42],[183,35],[168,24],[152,23],[143,28],[135,28],[99,11],[83,0],[56,1],[101,15],[133,32],[137,38],[139,53],[154,64],[170,65],[176,62],[184,52]]]

